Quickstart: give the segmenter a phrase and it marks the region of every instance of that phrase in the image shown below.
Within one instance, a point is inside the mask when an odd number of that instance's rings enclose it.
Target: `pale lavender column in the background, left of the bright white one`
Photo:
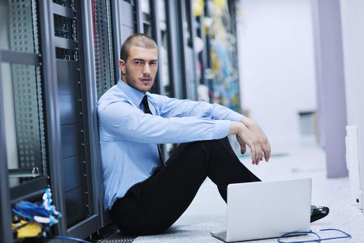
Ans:
[[[318,122],[326,149],[327,177],[347,176],[345,81],[340,1],[313,0]]]

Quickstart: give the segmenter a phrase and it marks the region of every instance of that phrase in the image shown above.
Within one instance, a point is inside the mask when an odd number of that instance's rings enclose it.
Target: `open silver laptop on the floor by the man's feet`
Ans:
[[[279,237],[309,231],[311,178],[227,186],[227,229],[211,232],[224,242]]]

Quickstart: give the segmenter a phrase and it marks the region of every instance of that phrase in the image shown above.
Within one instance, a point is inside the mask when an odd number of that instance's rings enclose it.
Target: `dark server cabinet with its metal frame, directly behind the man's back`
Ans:
[[[102,198],[91,1],[53,0],[53,38],[60,131],[63,232],[87,237],[101,227]],[[59,181],[58,181],[59,183]]]

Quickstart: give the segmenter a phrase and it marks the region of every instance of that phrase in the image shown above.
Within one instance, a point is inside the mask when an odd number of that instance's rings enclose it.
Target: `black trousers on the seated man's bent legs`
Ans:
[[[162,233],[188,208],[207,176],[225,201],[230,183],[260,181],[236,157],[227,138],[180,144],[166,167],[115,201],[112,219],[125,235]]]

